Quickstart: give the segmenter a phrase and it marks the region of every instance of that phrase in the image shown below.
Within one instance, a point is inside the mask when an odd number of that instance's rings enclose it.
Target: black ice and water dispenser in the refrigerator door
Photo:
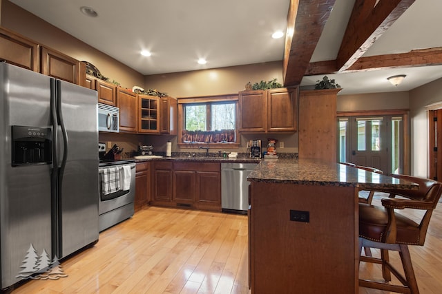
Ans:
[[[12,126],[12,166],[52,162],[52,133],[46,127]]]

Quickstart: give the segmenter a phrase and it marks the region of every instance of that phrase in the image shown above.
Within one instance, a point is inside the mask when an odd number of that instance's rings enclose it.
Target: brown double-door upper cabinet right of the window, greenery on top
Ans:
[[[240,132],[295,132],[298,87],[239,93]]]

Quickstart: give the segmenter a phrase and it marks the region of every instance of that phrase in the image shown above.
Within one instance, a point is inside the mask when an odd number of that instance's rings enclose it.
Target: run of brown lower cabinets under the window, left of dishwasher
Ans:
[[[219,162],[158,160],[153,174],[151,204],[221,211]]]

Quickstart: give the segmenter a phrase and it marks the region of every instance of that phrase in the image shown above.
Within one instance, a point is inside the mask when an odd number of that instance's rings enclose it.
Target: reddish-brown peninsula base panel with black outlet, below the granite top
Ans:
[[[358,293],[357,193],[252,181],[251,293]],[[296,221],[296,211],[309,220]]]

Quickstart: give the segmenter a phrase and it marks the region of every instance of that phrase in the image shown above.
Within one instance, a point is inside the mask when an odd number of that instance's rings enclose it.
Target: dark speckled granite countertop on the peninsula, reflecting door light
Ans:
[[[419,185],[364,169],[313,159],[262,160],[247,180],[359,189],[417,189]]]

